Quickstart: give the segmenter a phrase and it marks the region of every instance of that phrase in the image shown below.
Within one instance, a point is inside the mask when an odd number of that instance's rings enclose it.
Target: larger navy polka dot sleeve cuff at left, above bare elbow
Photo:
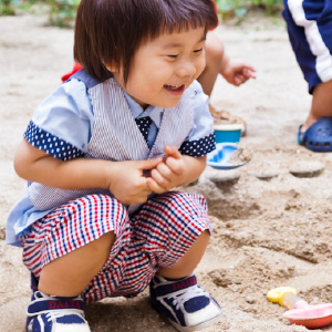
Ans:
[[[70,160],[84,156],[84,153],[72,144],[38,127],[32,121],[24,133],[24,138],[39,149],[61,160]]]

